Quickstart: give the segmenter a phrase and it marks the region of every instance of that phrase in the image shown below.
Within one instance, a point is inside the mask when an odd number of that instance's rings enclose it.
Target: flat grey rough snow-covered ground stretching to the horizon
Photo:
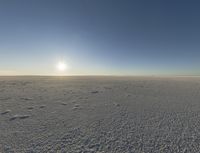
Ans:
[[[0,77],[0,152],[199,150],[200,78]]]

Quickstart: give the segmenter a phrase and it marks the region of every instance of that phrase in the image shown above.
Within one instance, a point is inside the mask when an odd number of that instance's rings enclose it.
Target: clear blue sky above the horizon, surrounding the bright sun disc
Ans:
[[[199,8],[199,0],[0,0],[0,75],[200,75]]]

